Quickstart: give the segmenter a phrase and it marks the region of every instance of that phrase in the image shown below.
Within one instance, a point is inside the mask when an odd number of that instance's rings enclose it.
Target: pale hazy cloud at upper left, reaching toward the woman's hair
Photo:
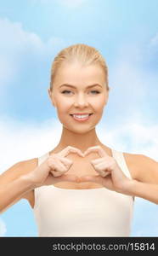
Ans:
[[[0,85],[8,84],[18,73],[21,63],[29,56],[32,60],[53,55],[65,46],[62,38],[49,38],[47,42],[34,32],[27,32],[20,22],[0,19]],[[30,60],[31,61],[31,60]],[[1,88],[2,90],[2,88]]]

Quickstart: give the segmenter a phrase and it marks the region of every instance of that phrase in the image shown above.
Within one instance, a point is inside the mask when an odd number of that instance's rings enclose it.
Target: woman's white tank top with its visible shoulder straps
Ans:
[[[132,178],[121,152],[112,155],[122,172]],[[38,158],[38,166],[49,156]],[[33,212],[38,236],[130,236],[134,197],[106,188],[35,189]]]

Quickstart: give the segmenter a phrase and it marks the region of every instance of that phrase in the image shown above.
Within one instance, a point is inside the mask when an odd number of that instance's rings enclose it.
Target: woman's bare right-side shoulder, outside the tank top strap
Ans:
[[[144,183],[158,183],[158,162],[144,154],[124,153],[133,179]]]

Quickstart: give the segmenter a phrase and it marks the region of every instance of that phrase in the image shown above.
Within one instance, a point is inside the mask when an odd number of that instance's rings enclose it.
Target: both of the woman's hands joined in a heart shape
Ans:
[[[65,158],[65,156],[67,156],[69,153],[76,153],[81,157],[85,157],[87,154],[92,152],[97,152],[100,156],[98,159],[90,160],[91,165],[98,175],[77,177],[76,175],[65,174],[65,172],[67,172],[73,164],[72,160]],[[48,165],[51,167],[53,176],[56,177],[56,182],[71,181],[77,183],[99,183],[107,189],[125,194],[128,185],[131,182],[131,179],[125,176],[125,174],[121,171],[121,168],[118,166],[116,160],[107,154],[100,146],[87,148],[84,153],[82,153],[79,148],[68,146],[58,154],[53,154],[50,156]]]

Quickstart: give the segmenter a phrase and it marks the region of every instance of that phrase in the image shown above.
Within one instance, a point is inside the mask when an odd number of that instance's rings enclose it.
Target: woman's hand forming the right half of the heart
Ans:
[[[99,175],[82,176],[80,182],[93,182],[103,185],[105,188],[119,193],[125,193],[131,179],[125,176],[116,160],[106,154],[100,146],[90,147],[84,152],[84,156],[91,152],[97,152],[99,159],[91,160],[91,164]]]

